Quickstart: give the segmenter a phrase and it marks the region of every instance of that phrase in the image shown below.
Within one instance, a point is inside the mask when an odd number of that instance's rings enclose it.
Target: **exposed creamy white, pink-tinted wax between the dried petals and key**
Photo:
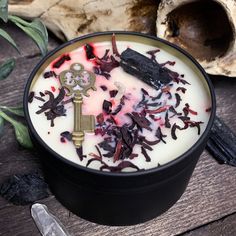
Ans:
[[[110,49],[110,54],[112,53],[111,42],[99,42],[93,44],[95,48],[95,53],[98,57],[102,57],[106,49]],[[136,50],[139,53],[150,58],[146,52],[149,50],[154,50],[156,48],[152,46],[147,46],[146,44],[136,43],[136,42],[125,42],[118,41],[117,42],[118,51],[121,53],[127,47],[130,47],[133,50]],[[109,54],[109,55],[110,55]],[[106,114],[102,107],[104,100],[110,101],[112,103],[112,109],[114,110],[120,104],[120,98],[122,95],[126,97],[124,100],[124,105],[122,106],[121,111],[113,116],[117,122],[118,127],[122,127],[124,124],[131,125],[132,120],[127,113],[132,112],[141,112],[143,107],[137,108],[137,104],[142,100],[143,93],[141,89],[145,89],[148,93],[148,103],[161,103],[161,105],[146,107],[147,113],[146,118],[150,121],[151,130],[142,129],[139,130],[139,136],[144,136],[149,141],[156,141],[158,137],[156,136],[156,131],[158,127],[161,128],[161,131],[166,137],[163,138],[163,141],[160,141],[156,145],[149,145],[153,150],[148,150],[145,148],[147,154],[150,157],[150,161],[144,157],[142,153],[142,143],[136,144],[133,147],[132,153],[138,154],[137,157],[133,159],[125,158],[124,160],[114,161],[113,157],[103,157],[102,161],[105,162],[109,166],[117,166],[122,161],[129,161],[136,165],[140,169],[150,169],[157,167],[158,165],[163,165],[168,163],[175,158],[179,157],[181,154],[185,153],[190,147],[192,147],[199,137],[204,132],[210,112],[206,111],[211,105],[211,99],[209,92],[207,91],[204,82],[199,79],[199,75],[188,65],[186,65],[182,60],[180,60],[177,56],[170,54],[169,52],[161,49],[160,52],[156,54],[156,60],[158,63],[165,63],[166,61],[174,61],[174,65],[165,65],[166,68],[169,68],[171,71],[177,72],[179,75],[184,75],[184,77],[179,76],[178,78],[186,80],[189,84],[183,84],[181,82],[177,83],[172,81],[171,85],[168,86],[169,92],[172,95],[172,98],[169,99],[169,94],[163,90],[163,95],[160,99],[152,100],[152,97],[156,97],[161,90],[156,90],[138,78],[124,72],[124,70],[119,66],[111,70],[110,78],[106,79],[102,75],[96,75],[95,87],[96,91],[89,90],[89,97],[83,97],[83,108],[82,113],[84,115],[94,115],[95,117],[99,114],[103,113],[104,119],[110,117],[109,114]],[[65,61],[58,69],[53,68],[53,71],[59,75],[63,70],[67,70],[70,68],[70,65],[73,63],[83,64],[87,71],[93,71],[93,67],[95,66],[94,60],[88,60],[86,58],[86,53],[84,47],[80,47],[72,52],[69,52],[69,56],[71,60]],[[116,58],[119,60],[119,58]],[[56,61],[56,60],[55,60]],[[35,96],[40,97],[40,92],[44,93],[46,90],[51,91],[56,97],[59,93],[59,89],[61,88],[60,80],[58,77],[50,77],[44,78],[43,74],[45,72],[52,70],[52,62],[48,67],[44,70],[44,72],[37,78],[34,82],[33,86],[31,86],[31,91],[34,92]],[[163,88],[165,88],[164,86]],[[185,88],[186,91],[183,93],[180,89],[177,88],[182,87]],[[106,89],[106,91],[104,91]],[[119,90],[118,94],[112,98],[110,96],[111,90]],[[200,124],[200,135],[198,135],[198,129],[196,127],[189,127],[185,130],[176,129],[177,139],[173,139],[171,135],[172,128],[165,127],[165,116],[166,111],[169,107],[176,105],[176,96],[175,94],[179,94],[181,97],[180,105],[175,108],[178,113],[182,113],[184,115],[183,108],[185,104],[188,103],[190,106],[190,112],[188,117],[191,121],[195,122],[203,122]],[[42,95],[42,94],[41,94]],[[42,97],[45,101],[48,100],[48,95]],[[68,98],[65,97],[64,100]],[[62,157],[77,163],[78,165],[86,166],[88,160],[94,158],[93,154],[99,155],[95,146],[99,147],[99,143],[104,141],[104,138],[109,137],[109,135],[105,134],[102,136],[100,133],[95,135],[94,133],[85,133],[85,140],[83,142],[83,154],[86,155],[86,158],[83,158],[81,161],[76,152],[75,146],[72,141],[68,141],[67,139],[61,139],[61,133],[68,131],[70,133],[73,132],[74,128],[74,106],[73,103],[67,103],[64,105],[66,109],[65,116],[56,117],[54,120],[54,126],[51,126],[50,120],[47,120],[44,112],[41,114],[36,114],[36,112],[40,109],[44,102],[34,98],[31,103],[29,103],[29,114],[33,126],[41,139],[48,145],[52,150],[61,155]],[[156,110],[159,107],[166,107],[167,110],[163,112],[158,112],[152,114],[152,110]],[[192,112],[191,112],[192,111]],[[195,114],[197,112],[197,114]],[[152,115],[150,118],[149,115]],[[180,127],[184,126],[182,120],[178,117],[180,115],[174,115],[170,111],[168,111],[169,121],[171,127],[176,123]],[[173,117],[172,117],[173,116]],[[98,123],[96,122],[96,128],[99,128]],[[137,128],[134,128],[137,129]],[[111,137],[113,138],[113,137]],[[114,148],[117,146],[117,142],[111,142]],[[102,155],[106,154],[107,151],[103,148],[99,147],[99,150]],[[88,168],[99,169],[103,164],[99,161],[93,161]],[[125,168],[122,171],[136,171],[135,168]]]

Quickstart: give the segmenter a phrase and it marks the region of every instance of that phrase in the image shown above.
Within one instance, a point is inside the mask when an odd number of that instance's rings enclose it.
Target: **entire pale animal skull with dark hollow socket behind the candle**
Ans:
[[[62,40],[107,30],[152,35],[157,32],[158,37],[186,49],[208,73],[236,76],[235,0],[159,3],[160,0],[10,0],[9,13],[26,19],[40,18]]]

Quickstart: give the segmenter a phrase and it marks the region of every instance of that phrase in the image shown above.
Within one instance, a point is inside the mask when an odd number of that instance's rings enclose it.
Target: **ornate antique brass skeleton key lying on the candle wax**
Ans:
[[[67,96],[74,95],[74,131],[72,140],[76,148],[81,147],[84,141],[84,132],[94,132],[95,118],[93,115],[82,115],[83,96],[89,97],[89,89],[96,90],[94,73],[84,70],[80,63],[74,63],[69,70],[59,75],[61,85],[68,91]]]

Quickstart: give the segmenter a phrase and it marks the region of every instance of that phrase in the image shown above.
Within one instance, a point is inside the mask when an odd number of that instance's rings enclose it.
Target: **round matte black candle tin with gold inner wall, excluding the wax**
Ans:
[[[30,120],[28,94],[32,81],[43,67],[74,45],[110,40],[113,32],[94,33],[71,40],[50,52],[35,67],[24,92],[26,121],[35,147],[40,150],[46,180],[56,198],[78,216],[106,225],[132,225],[150,220],[168,210],[185,191],[194,167],[206,145],[215,117],[215,95],[202,67],[188,53],[165,40],[135,32],[115,32],[117,40],[145,41],[164,45],[198,70],[205,80],[211,100],[211,116],[206,130],[187,152],[177,159],[145,171],[110,173],[92,170],[67,161],[40,138]],[[78,45],[77,45],[78,46]]]

